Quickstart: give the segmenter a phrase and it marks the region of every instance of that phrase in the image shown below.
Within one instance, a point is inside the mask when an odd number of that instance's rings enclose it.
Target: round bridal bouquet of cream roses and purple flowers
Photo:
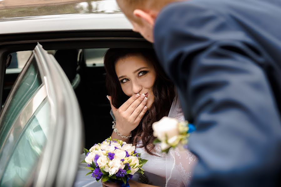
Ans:
[[[135,146],[111,137],[90,150],[84,148],[84,152],[86,158],[82,162],[88,163],[85,168],[91,170],[86,175],[92,174],[97,181],[121,182],[122,186],[129,186],[128,180],[134,173],[143,174],[142,166],[147,162],[140,158]]]

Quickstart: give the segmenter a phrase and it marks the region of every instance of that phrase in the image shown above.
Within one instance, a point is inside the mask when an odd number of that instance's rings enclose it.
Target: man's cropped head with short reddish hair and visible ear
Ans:
[[[155,19],[163,7],[171,2],[184,0],[116,0],[120,9],[145,39],[153,42]]]

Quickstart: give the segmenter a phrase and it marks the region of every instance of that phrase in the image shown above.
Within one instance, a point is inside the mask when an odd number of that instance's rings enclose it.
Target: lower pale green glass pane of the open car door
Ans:
[[[29,120],[9,158],[0,186],[24,186],[48,137],[50,105],[47,99]]]

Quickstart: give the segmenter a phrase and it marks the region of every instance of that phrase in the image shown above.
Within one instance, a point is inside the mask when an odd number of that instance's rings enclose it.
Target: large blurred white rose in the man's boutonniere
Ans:
[[[163,117],[160,121],[152,124],[153,136],[157,137],[160,141],[165,141],[166,136],[168,139],[179,135],[178,120],[170,117]]]

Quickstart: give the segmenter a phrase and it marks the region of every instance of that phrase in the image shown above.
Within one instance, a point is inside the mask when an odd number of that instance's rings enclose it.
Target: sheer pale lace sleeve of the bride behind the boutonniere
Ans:
[[[184,121],[177,92],[168,117]],[[197,157],[183,148],[170,149],[166,154],[166,186],[189,186]]]

